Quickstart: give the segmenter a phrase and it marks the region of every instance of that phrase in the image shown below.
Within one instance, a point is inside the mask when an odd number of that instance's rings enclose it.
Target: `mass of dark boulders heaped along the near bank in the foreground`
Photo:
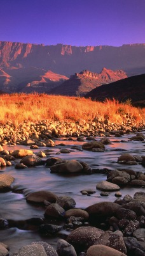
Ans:
[[[135,193],[134,198],[126,195],[115,202],[93,204],[86,209],[75,208],[76,202],[71,196],[57,196],[51,191],[29,193],[26,200],[44,205],[45,212],[44,218],[25,220],[25,228],[33,226],[42,236],[61,236],[62,229],[69,234],[57,241],[56,250],[39,241],[20,248],[13,256],[143,256],[145,253],[145,192]],[[54,218],[62,220],[62,225],[50,224]],[[8,227],[11,221],[1,219],[0,228]],[[5,244],[0,244],[0,250],[2,256],[8,255]]]

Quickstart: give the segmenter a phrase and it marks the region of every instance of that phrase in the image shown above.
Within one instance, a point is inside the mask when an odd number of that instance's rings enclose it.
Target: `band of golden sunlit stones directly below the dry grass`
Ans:
[[[0,127],[0,141],[1,143],[15,144],[27,139],[52,139],[54,136],[74,136],[78,137],[82,134],[84,136],[96,136],[114,134],[121,136],[125,132],[136,132],[143,129],[142,124],[135,125],[130,119],[125,124],[113,124],[108,119],[102,121],[101,117],[96,117],[92,121],[85,121],[83,119],[78,122],[59,122],[43,120],[41,122],[24,122],[23,124],[15,125],[11,122],[1,125]]]

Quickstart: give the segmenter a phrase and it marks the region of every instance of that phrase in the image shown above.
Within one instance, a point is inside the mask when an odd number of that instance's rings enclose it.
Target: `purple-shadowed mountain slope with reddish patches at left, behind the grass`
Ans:
[[[55,74],[50,70],[36,67],[0,69],[0,90],[12,92],[48,93],[55,86],[59,86],[68,77]]]

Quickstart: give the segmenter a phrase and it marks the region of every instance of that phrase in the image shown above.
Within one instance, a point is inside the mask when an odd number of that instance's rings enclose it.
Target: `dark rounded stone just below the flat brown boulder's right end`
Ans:
[[[59,204],[50,204],[45,210],[45,216],[62,218],[65,210]]]

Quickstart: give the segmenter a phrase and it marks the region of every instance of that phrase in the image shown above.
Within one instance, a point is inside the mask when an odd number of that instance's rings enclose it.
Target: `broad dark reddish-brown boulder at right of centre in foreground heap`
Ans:
[[[113,216],[116,214],[116,211],[121,207],[121,205],[112,203],[112,202],[100,202],[88,206],[85,211],[88,212],[90,218],[94,217],[95,219],[101,217]]]

